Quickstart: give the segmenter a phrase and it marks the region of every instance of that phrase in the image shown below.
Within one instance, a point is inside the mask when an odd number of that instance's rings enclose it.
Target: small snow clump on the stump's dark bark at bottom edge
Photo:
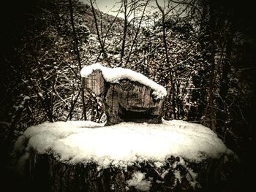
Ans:
[[[149,191],[151,188],[151,182],[149,180],[145,180],[145,173],[135,172],[132,174],[132,179],[127,180],[128,186],[133,186],[138,191]]]

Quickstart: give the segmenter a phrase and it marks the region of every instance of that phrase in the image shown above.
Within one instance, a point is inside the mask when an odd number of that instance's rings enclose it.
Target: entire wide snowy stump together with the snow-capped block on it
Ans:
[[[104,101],[108,126],[67,121],[28,128],[15,148],[26,148],[18,165],[31,191],[218,190],[224,157],[233,153],[205,126],[162,120],[165,88],[100,64],[81,75],[86,91]]]

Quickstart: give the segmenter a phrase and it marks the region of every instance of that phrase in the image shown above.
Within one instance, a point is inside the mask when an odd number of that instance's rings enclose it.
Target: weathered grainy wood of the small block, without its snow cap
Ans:
[[[121,122],[162,123],[164,99],[154,99],[153,90],[128,79],[107,82],[102,72],[94,71],[84,80],[86,91],[102,98],[107,125]]]

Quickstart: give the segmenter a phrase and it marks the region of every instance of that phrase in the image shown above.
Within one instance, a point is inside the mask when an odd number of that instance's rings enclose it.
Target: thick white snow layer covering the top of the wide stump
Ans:
[[[227,151],[209,128],[182,120],[103,126],[91,121],[42,123],[27,128],[21,137],[38,153],[55,153],[71,164],[94,161],[103,168],[145,160],[161,165],[170,155],[202,161]],[[20,139],[18,143],[23,144]],[[22,150],[18,144],[15,147]]]

